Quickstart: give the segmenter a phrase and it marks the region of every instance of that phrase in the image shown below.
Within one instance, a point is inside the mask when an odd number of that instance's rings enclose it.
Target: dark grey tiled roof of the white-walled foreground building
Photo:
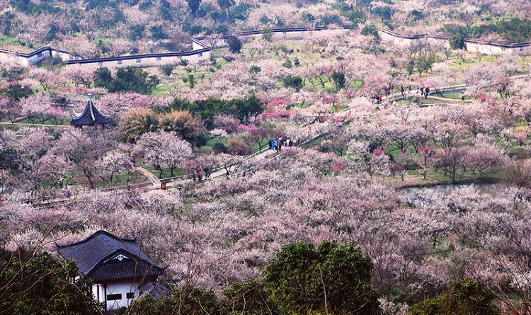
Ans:
[[[93,281],[118,280],[163,275],[166,268],[155,265],[138,247],[135,239],[123,239],[107,231],[97,231],[82,241],[58,245],[64,259],[76,260],[79,273]],[[118,255],[125,256],[121,260]]]

